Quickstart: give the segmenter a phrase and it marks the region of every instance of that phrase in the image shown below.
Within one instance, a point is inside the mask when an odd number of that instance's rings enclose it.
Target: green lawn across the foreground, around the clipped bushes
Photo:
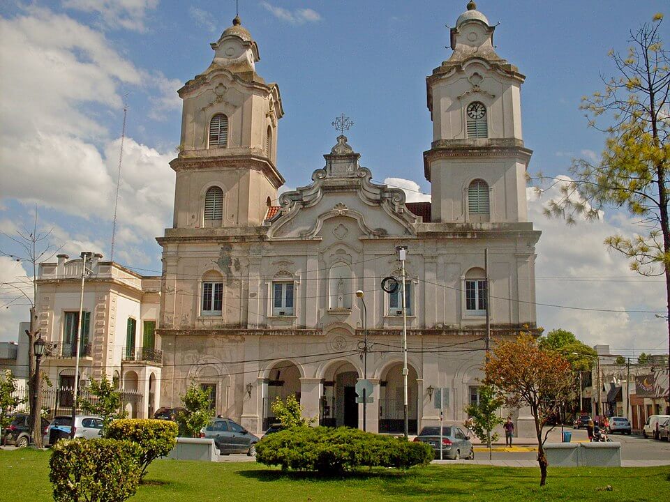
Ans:
[[[50,501],[50,452],[0,450],[0,501]],[[447,465],[322,479],[282,473],[253,462],[206,464],[158,460],[130,500],[193,502],[378,501],[660,501],[670,494],[670,469],[539,469]],[[611,485],[611,491],[605,487]],[[665,494],[665,495],[662,495]]]

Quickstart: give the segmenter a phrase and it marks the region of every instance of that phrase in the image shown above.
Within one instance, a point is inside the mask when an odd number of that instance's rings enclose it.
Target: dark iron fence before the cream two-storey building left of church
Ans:
[[[70,415],[72,413],[73,406],[73,393],[72,387],[45,387],[42,389],[42,411],[43,416],[52,420],[54,416],[58,415]],[[121,409],[125,409],[128,404],[131,404],[131,408],[134,411],[140,411],[142,409],[143,395],[138,390],[119,390],[121,397]],[[17,412],[29,412],[30,410],[30,394],[27,386],[22,386],[17,388],[16,392],[13,394],[15,397],[18,397],[20,400],[23,400],[23,403],[18,406],[15,410]],[[91,402],[95,404],[98,401],[98,397],[91,393],[91,389],[88,387],[80,388],[78,392],[78,404],[77,413],[82,412],[82,404],[84,402]]]

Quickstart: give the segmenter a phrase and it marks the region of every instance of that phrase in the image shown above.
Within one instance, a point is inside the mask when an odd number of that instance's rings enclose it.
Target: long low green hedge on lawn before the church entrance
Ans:
[[[360,466],[408,469],[429,464],[432,459],[433,449],[425,443],[348,427],[294,427],[256,444],[256,462],[321,473],[341,473]]]

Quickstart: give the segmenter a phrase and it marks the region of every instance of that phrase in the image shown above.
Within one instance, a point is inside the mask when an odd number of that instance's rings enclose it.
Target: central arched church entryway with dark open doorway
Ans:
[[[319,424],[325,427],[358,427],[356,382],[359,373],[348,361],[336,361],[323,375]]]

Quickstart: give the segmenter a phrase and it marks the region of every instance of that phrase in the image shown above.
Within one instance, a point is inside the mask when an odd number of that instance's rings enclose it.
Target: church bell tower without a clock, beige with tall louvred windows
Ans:
[[[258,45],[235,17],[211,48],[209,68],[179,89],[174,229],[262,225],[284,183],[275,165],[281,96],[256,73]]]

